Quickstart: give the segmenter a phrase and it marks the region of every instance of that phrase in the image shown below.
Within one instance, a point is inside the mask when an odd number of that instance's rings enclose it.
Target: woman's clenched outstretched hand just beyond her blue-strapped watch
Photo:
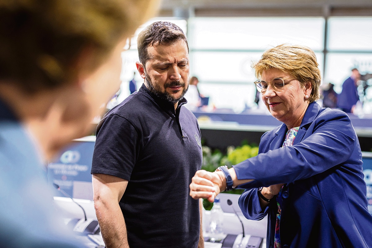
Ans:
[[[209,202],[214,202],[214,198],[221,192],[221,187],[226,182],[223,182],[222,177],[218,172],[209,172],[205,170],[196,171],[190,184],[190,196],[193,199],[206,198]]]

